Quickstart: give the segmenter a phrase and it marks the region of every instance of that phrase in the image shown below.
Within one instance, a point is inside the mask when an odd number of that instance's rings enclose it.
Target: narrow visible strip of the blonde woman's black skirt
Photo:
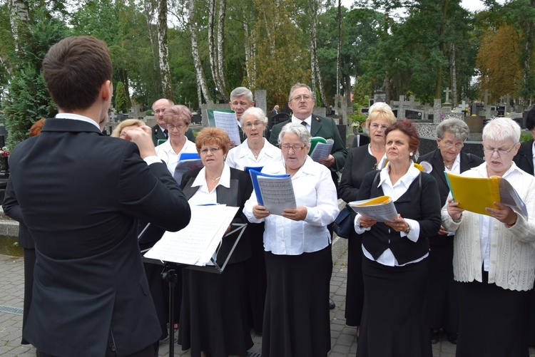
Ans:
[[[347,287],[345,291],[345,324],[360,326],[364,304],[362,281],[362,234],[352,232],[347,240]]]

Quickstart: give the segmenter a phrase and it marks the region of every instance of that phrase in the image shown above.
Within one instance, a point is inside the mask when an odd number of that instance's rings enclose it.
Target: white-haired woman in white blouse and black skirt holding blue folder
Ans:
[[[282,216],[270,214],[253,193],[243,210],[250,222],[265,222],[262,356],[327,356],[332,271],[327,224],[339,212],[336,188],[329,169],[308,157],[310,133],[303,125],[285,125],[278,143],[282,162],[271,162],[262,172],[292,177],[297,208],[284,209]]]

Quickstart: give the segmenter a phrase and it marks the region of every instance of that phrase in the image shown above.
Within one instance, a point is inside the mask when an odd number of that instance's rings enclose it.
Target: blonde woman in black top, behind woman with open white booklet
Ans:
[[[370,144],[351,148],[340,178],[340,198],[345,202],[357,200],[360,184],[365,175],[382,167],[384,138],[387,128],[396,117],[387,103],[377,102],[370,107],[364,128],[370,135]],[[347,241],[347,290],[345,294],[345,324],[357,326],[360,334],[364,285],[362,282],[362,234],[352,232]]]

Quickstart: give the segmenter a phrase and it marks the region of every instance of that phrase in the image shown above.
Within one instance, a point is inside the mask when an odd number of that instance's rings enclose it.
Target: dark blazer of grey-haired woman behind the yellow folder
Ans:
[[[460,153],[461,155],[461,172],[470,170],[472,167],[481,165],[485,160],[481,157],[469,154],[466,152]],[[446,181],[446,175],[444,175],[444,159],[442,159],[442,154],[439,149],[435,149],[432,152],[427,152],[427,154],[418,157],[417,162],[427,161],[433,167],[433,170],[429,172],[429,175],[434,177],[434,180],[437,180],[437,185],[439,187],[440,194],[440,207],[444,207],[446,200],[449,195],[449,186]],[[438,231],[437,231],[438,233]],[[429,237],[429,244],[432,245],[441,245],[446,244],[447,240],[444,239],[444,236],[439,234],[434,234],[434,236]]]

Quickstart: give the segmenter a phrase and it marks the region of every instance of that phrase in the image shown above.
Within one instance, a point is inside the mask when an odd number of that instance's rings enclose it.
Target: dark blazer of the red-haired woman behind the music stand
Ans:
[[[200,168],[190,170],[186,172],[182,177],[182,188],[185,197],[189,200],[199,187],[191,187],[195,178],[200,172]],[[253,192],[253,184],[251,183],[250,176],[242,170],[236,170],[230,167],[230,188],[219,185],[215,188],[218,195],[218,203],[225,204],[231,207],[240,207],[238,213],[236,213],[233,223],[247,223],[248,220],[243,214],[243,205],[247,201]],[[206,217],[210,219],[210,217]],[[225,262],[226,257],[230,253],[234,242],[238,239],[238,233],[231,234],[229,237],[223,238],[223,244],[218,253],[218,264],[221,265]],[[251,257],[251,246],[248,237],[245,234],[240,238],[240,242],[234,249],[228,264],[243,262]]]

